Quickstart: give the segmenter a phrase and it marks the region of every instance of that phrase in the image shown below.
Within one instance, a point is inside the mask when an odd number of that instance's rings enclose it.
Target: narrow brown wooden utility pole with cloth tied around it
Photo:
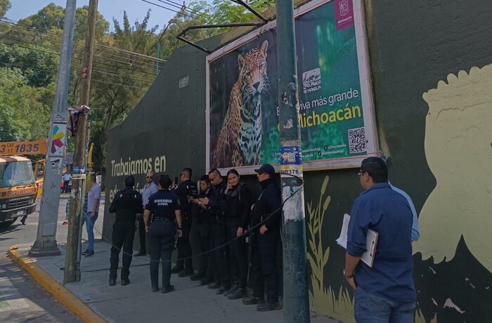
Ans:
[[[98,12],[98,0],[89,1],[89,18],[87,19],[87,34],[84,47],[84,64],[82,65],[82,81],[80,91],[80,105],[89,106],[91,93],[92,59],[94,51],[94,34],[96,33],[96,16]],[[87,114],[79,114],[77,120],[77,134],[75,136],[74,167],[82,166],[86,169],[86,138],[87,138]],[[65,256],[65,272],[63,282],[79,281],[77,275],[77,257],[80,253],[80,216],[82,199],[85,195],[85,186],[82,179],[72,180],[72,204],[70,204],[70,216],[68,218],[67,254]]]

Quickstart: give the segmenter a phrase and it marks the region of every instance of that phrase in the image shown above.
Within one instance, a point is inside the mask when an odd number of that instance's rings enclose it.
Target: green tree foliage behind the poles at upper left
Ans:
[[[263,12],[274,0],[252,0],[248,4]],[[1,1],[0,18],[10,8]],[[77,8],[68,105],[79,105],[88,6]],[[129,22],[126,12],[110,23],[96,18],[96,47],[91,77],[91,142],[96,169],[105,167],[108,130],[121,123],[143,97],[163,63],[183,43],[176,39],[192,25],[246,22],[256,17],[234,1],[193,1],[161,26],[148,25],[150,11],[141,22]],[[31,140],[46,138],[63,36],[65,8],[51,3],[18,23],[0,20],[0,138]],[[194,41],[212,37],[224,29],[195,29],[187,33]],[[70,140],[68,147],[72,146]]]

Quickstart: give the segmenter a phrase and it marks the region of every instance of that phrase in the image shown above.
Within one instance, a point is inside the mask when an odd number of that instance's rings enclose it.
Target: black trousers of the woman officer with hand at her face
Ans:
[[[227,242],[237,237],[239,219],[231,218],[226,223]],[[228,244],[229,261],[231,265],[231,279],[237,281],[241,288],[246,286],[247,281],[247,245],[246,237],[235,239]]]

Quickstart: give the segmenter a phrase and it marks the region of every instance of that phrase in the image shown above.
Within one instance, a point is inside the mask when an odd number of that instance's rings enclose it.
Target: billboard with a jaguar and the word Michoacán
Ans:
[[[305,169],[354,167],[375,152],[365,41],[354,14],[359,1],[312,3],[295,20],[300,157]],[[274,27],[207,58],[209,169],[251,172],[282,160]]]

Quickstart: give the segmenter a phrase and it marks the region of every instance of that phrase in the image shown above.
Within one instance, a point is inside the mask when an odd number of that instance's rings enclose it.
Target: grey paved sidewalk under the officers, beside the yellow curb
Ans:
[[[83,246],[85,247],[85,245]],[[27,255],[30,244],[18,246],[18,253]],[[65,284],[73,296],[108,322],[283,322],[283,310],[257,312],[255,305],[243,305],[241,300],[231,301],[206,286],[198,286],[189,277],[171,276],[171,284],[176,291],[169,294],[150,291],[148,256],[135,258],[130,268],[128,286],[108,286],[110,244],[96,242],[96,254],[90,258],[82,257],[81,282]],[[63,283],[65,246],[60,245],[60,256],[33,258],[32,261],[58,283]],[[25,261],[30,261],[25,258]],[[121,263],[120,263],[121,265]],[[118,272],[119,274],[119,272]],[[70,294],[70,293],[69,293]],[[59,298],[65,298],[62,294]],[[63,300],[60,300],[63,302]],[[71,302],[71,300],[65,300]],[[70,306],[68,306],[70,308]],[[84,319],[91,322],[91,319]],[[316,316],[313,323],[335,323],[335,319]]]

